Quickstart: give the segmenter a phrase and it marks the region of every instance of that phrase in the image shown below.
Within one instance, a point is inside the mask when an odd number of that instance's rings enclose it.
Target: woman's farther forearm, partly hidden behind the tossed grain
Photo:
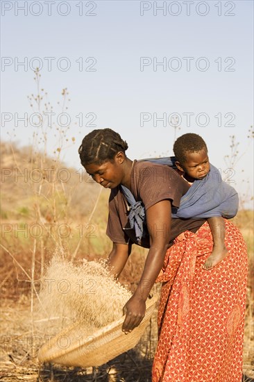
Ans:
[[[108,265],[112,274],[117,278],[126,265],[131,252],[131,244],[117,244],[113,242],[112,251],[108,256]]]

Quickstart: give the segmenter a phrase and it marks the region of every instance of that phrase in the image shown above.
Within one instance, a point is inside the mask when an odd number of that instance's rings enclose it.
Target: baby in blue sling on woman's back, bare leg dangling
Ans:
[[[203,265],[211,269],[228,255],[224,244],[223,217],[234,217],[238,208],[237,192],[221,180],[219,170],[210,165],[208,148],[201,136],[194,133],[182,135],[173,144],[176,167],[191,188],[181,198],[180,207],[173,217],[207,217],[214,247]]]

